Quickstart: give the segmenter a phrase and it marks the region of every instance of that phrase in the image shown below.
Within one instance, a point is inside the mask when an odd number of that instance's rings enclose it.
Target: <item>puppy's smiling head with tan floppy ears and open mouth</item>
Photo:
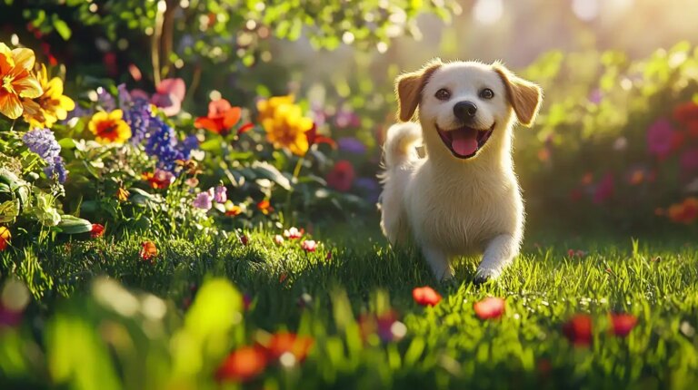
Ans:
[[[409,121],[419,106],[430,152],[450,151],[470,159],[488,142],[507,136],[513,112],[528,126],[538,112],[541,90],[499,64],[429,63],[398,78],[399,116]],[[491,141],[492,140],[492,141]]]

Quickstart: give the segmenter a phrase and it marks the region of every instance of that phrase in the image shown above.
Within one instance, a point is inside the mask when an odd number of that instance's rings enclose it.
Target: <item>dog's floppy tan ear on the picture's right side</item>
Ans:
[[[531,127],[543,101],[543,90],[538,85],[516,76],[501,63],[494,63],[492,67],[494,72],[502,77],[507,98],[519,123]]]

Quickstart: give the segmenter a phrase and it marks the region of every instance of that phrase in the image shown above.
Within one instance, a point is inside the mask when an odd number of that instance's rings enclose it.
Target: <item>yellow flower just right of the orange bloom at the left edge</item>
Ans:
[[[32,127],[51,128],[56,121],[63,121],[69,111],[75,110],[75,102],[64,96],[63,80],[58,77],[48,80],[44,64],[37,76],[44,94],[35,101],[25,99],[25,120]]]

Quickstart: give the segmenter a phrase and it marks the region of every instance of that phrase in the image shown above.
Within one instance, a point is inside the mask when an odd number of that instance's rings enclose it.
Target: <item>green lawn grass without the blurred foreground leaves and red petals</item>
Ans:
[[[231,280],[253,298],[242,323],[220,346],[224,351],[251,344],[260,330],[289,329],[314,336],[314,349],[303,364],[293,369],[271,367],[248,384],[251,388],[653,389],[693,388],[698,383],[695,244],[628,238],[576,239],[554,246],[545,239],[533,245],[531,239],[503,278],[477,287],[471,283],[476,258],[457,264],[457,282],[440,284],[420,256],[387,249],[382,239],[365,239],[378,237],[373,232],[333,232],[333,237],[343,238],[334,241],[319,235],[323,247],[315,253],[305,253],[297,242],[276,247],[275,233],[253,233],[248,246],[235,237],[155,240],[161,250],[155,265],[138,258],[141,237],[72,242],[69,249],[64,244],[35,246],[0,254],[2,273],[24,279],[36,297],[25,313],[24,330],[15,335],[36,351],[13,371],[2,363],[13,351],[9,339],[0,343],[4,346],[0,347],[0,384],[6,384],[0,387],[55,384],[45,321],[55,323],[56,317],[74,316],[97,328],[111,318],[130,324],[126,329],[132,336],[147,334],[144,324],[132,324],[98,308],[89,288],[98,276],[109,276],[126,288],[169,302],[164,336],[145,337],[132,347],[142,354],[171,345],[167,340],[182,326],[184,307],[195,296],[193,287],[214,276]],[[588,254],[569,258],[570,248]],[[329,260],[327,251],[332,253]],[[444,296],[436,307],[414,303],[412,289],[424,285]],[[474,302],[488,296],[505,298],[501,319],[475,317]],[[382,343],[376,336],[362,342],[355,318],[386,307],[399,313],[406,336],[391,343]],[[612,312],[638,317],[629,336],[608,332]],[[563,323],[575,313],[593,316],[591,346],[575,347],[563,336]],[[138,354],[129,359],[159,368],[131,371],[118,348],[107,345],[110,357],[101,358],[105,365],[116,367],[116,388],[135,388],[135,384],[159,388],[154,385],[158,378],[176,372],[176,365],[154,363]],[[164,356],[176,360],[171,352]],[[210,358],[195,370],[192,383],[197,385],[190,388],[211,388],[203,381],[212,377],[221,356],[220,352],[205,356]],[[185,383],[181,388],[187,388]]]

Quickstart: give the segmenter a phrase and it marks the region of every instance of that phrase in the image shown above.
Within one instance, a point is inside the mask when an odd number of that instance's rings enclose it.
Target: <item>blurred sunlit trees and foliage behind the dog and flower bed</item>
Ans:
[[[372,217],[394,77],[436,56],[502,60],[545,91],[514,143],[529,229],[696,232],[695,1],[2,1],[0,41],[35,48],[80,99],[178,77],[197,116],[209,98],[254,111],[293,93],[351,167],[318,174]]]

